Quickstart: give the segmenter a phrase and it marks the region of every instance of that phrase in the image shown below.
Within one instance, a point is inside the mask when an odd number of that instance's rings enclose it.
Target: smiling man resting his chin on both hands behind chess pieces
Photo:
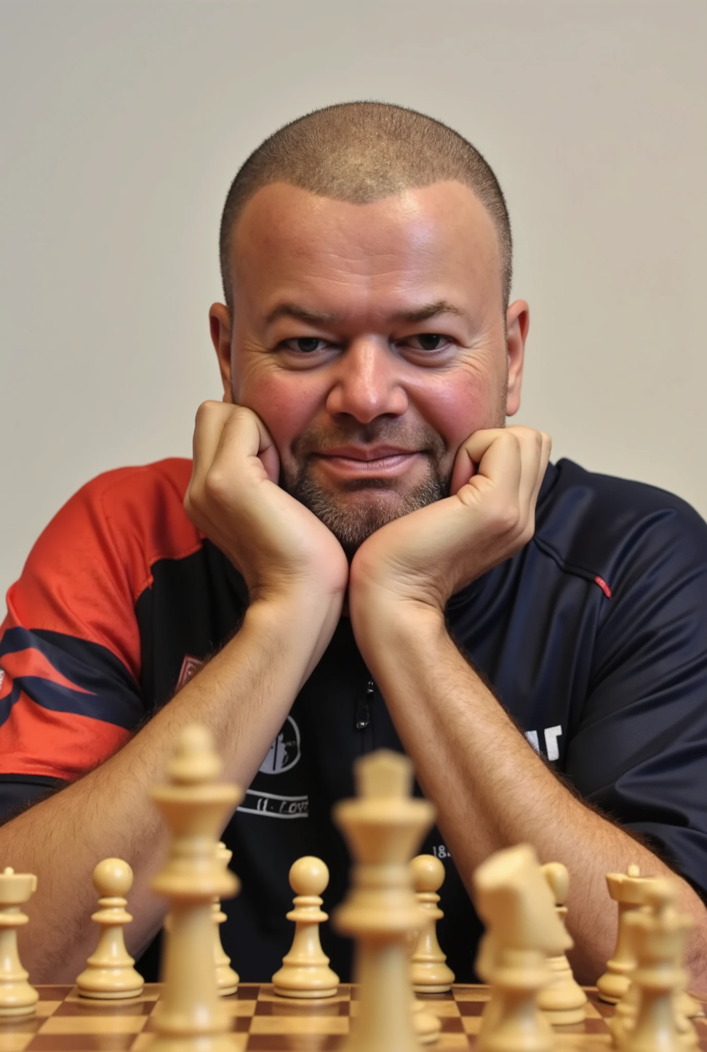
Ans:
[[[604,874],[629,863],[674,872],[707,979],[707,528],[667,493],[548,467],[546,434],[504,427],[529,312],[508,302],[488,165],[419,114],[329,107],[245,163],[221,261],[224,400],[198,411],[193,465],[89,483],[8,593],[0,853],[39,875],[34,977],[82,967],[105,855],[136,873],[132,948],[160,928],[147,791],[198,720],[247,789],[224,832],[243,978],[287,948],[298,855],[323,856],[342,895],[329,809],[354,757],[387,745],[438,809],[425,848],[447,869],[460,980],[470,875],[521,841],[570,868],[582,979],[613,945]],[[325,946],[346,976],[347,944]]]

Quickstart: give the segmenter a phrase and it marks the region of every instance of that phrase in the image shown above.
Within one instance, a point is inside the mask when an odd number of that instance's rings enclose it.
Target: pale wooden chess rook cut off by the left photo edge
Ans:
[[[27,983],[17,952],[17,929],[29,917],[20,911],[37,890],[34,873],[16,873],[6,866],[0,874],[0,1019],[33,1015],[39,994]]]

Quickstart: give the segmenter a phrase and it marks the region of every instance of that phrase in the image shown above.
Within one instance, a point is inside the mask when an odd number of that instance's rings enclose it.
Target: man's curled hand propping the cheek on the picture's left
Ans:
[[[336,626],[346,557],[323,523],[280,488],[279,470],[272,439],[255,412],[204,402],[184,508],[243,574],[251,602],[306,593],[328,604],[327,622]]]

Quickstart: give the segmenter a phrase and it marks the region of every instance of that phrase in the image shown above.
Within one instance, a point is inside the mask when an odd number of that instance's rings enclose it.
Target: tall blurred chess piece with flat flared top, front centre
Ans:
[[[425,800],[411,798],[412,765],[387,749],[361,756],[357,798],[341,801],[334,821],[356,865],[335,923],[356,938],[359,1011],[346,1052],[415,1052],[410,1011],[409,940],[425,916],[412,890],[410,857],[435,818]]]

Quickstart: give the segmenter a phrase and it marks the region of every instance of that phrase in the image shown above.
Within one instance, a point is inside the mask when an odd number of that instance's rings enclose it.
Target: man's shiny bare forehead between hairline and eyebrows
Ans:
[[[387,325],[396,311],[426,311],[442,301],[474,328],[503,312],[492,220],[457,182],[364,205],[286,183],[265,186],[237,222],[230,259],[234,305],[259,325],[288,305],[357,327]]]

